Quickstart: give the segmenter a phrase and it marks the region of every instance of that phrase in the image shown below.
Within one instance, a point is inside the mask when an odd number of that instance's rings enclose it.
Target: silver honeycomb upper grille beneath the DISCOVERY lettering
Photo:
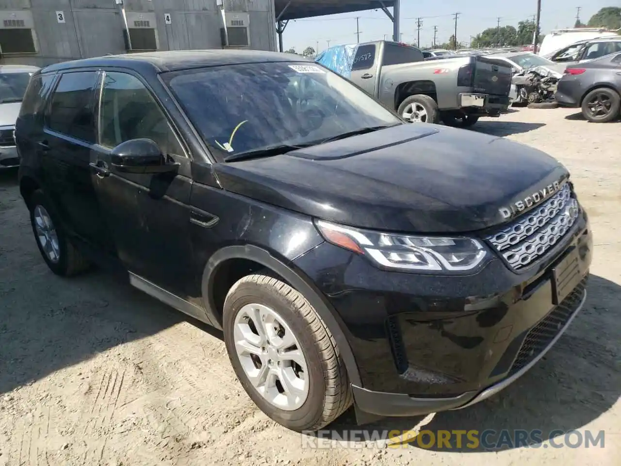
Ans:
[[[578,201],[565,183],[541,206],[486,239],[510,267],[518,270],[545,255],[571,229],[578,215]]]

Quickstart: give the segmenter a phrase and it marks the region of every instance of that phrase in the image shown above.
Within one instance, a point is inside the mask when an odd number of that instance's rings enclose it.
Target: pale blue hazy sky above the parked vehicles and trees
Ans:
[[[620,0],[542,0],[541,27],[545,34],[551,29],[573,27],[577,7],[580,19],[586,23],[599,9],[616,6]],[[391,8],[389,10],[392,10]],[[401,40],[415,42],[416,18],[422,17],[420,43],[432,45],[433,26],[438,27],[436,42],[448,42],[455,29],[453,14],[460,12],[457,20],[457,40],[466,43],[488,27],[513,25],[537,14],[537,0],[401,0]],[[284,50],[294,47],[301,53],[306,47],[318,52],[330,46],[356,43],[356,17],[360,17],[360,42],[391,40],[392,22],[381,10],[360,11],[332,16],[289,21],[284,33]],[[385,35],[385,36],[384,36]],[[330,41],[330,42],[328,42]]]

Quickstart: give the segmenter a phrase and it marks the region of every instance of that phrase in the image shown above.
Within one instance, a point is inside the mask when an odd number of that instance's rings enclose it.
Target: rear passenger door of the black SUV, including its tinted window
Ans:
[[[111,250],[89,168],[96,141],[96,83],[97,71],[60,76],[35,147],[41,153],[43,190],[66,230],[88,244]]]

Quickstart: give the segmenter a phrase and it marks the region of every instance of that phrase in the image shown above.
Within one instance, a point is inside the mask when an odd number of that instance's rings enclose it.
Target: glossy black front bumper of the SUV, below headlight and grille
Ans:
[[[570,250],[584,280],[555,306],[552,271]],[[415,416],[485,400],[537,363],[582,307],[591,255],[581,212],[558,248],[519,273],[500,258],[469,276],[383,272],[327,243],[295,263],[344,324],[356,407]]]

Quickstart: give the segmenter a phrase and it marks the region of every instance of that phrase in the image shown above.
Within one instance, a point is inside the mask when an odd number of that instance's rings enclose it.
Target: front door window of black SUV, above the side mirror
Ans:
[[[106,73],[99,144],[113,148],[138,138],[153,140],[166,155],[184,155],[166,115],[142,82],[127,73]]]

